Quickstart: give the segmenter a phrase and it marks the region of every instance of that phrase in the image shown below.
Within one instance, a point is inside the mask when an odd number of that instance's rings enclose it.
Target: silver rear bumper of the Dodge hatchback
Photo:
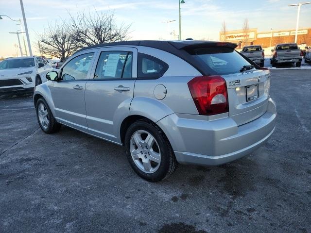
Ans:
[[[179,163],[212,166],[256,150],[274,132],[275,119],[276,104],[269,99],[262,116],[240,126],[230,117],[207,121],[176,114],[157,124],[164,129]]]

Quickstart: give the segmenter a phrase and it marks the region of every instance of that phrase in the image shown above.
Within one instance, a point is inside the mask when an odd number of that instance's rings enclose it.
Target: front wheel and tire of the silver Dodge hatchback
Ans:
[[[49,105],[43,98],[37,100],[35,110],[38,123],[44,133],[56,133],[60,130],[61,124],[56,122]]]

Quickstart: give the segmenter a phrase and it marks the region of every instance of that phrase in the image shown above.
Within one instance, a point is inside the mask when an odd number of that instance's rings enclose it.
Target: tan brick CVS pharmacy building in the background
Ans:
[[[280,43],[293,43],[295,40],[295,29],[269,32],[258,32],[257,28],[251,28],[245,33],[243,30],[227,31],[219,33],[221,41],[238,44],[241,49],[245,45],[261,45],[263,48],[274,47]],[[311,46],[311,28],[298,30],[297,44]]]

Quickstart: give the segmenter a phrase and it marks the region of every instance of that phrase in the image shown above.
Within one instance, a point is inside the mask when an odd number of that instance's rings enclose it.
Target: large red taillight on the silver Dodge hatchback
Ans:
[[[221,76],[199,76],[188,82],[188,87],[200,115],[228,112],[228,94]]]

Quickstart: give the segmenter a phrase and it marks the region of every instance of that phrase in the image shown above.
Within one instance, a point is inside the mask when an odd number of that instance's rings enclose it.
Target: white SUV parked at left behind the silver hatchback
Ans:
[[[52,67],[42,57],[7,58],[0,63],[0,92],[28,92],[46,82]]]

